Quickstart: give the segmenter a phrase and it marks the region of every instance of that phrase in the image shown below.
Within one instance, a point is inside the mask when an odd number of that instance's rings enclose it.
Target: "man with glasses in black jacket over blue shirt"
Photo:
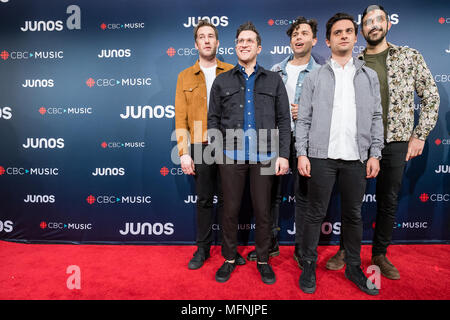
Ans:
[[[238,64],[219,75],[211,88],[208,132],[220,130],[225,142],[224,161],[217,160],[224,199],[221,226],[225,258],[216,273],[218,282],[227,281],[236,267],[238,215],[247,175],[256,223],[257,269],[264,283],[276,281],[268,264],[270,194],[273,175],[286,174],[289,169],[289,100],[280,76],[257,64],[260,52],[258,31],[253,23],[244,23],[236,33]],[[275,163],[274,170],[271,163]]]

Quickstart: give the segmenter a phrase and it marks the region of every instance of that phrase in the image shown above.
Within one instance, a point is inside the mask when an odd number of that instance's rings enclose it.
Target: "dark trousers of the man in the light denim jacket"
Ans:
[[[307,203],[307,191],[308,191],[308,180],[299,174],[297,169],[297,151],[295,149],[295,136],[291,134],[291,152],[289,155],[289,167],[292,171],[292,183],[293,191],[295,196],[295,251],[298,256],[301,254],[301,242],[303,237],[303,225],[305,219],[305,212],[308,209]],[[283,179],[289,179],[288,175],[275,176],[272,186],[272,237],[276,238],[278,236],[279,227],[279,217],[280,217],[280,204],[283,200],[282,196],[282,182]]]

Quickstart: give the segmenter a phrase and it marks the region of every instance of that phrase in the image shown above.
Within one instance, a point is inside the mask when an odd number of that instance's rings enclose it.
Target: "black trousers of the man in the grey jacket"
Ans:
[[[361,206],[366,190],[366,163],[310,158],[311,178],[308,179],[308,210],[303,229],[303,259],[317,261],[322,222],[327,214],[335,182],[341,195],[342,238],[346,249],[345,262],[361,265]]]

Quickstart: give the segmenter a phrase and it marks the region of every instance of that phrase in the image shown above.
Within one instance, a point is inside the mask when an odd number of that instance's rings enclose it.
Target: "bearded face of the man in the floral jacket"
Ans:
[[[391,28],[391,22],[386,19],[386,14],[380,10],[369,11],[362,21],[361,33],[367,43],[376,46],[386,37]]]

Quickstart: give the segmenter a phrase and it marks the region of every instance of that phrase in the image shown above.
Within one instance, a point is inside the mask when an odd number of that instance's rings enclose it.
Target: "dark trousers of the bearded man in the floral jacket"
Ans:
[[[407,152],[408,142],[385,142],[382,150],[380,173],[376,185],[377,216],[372,256],[386,255],[387,248],[391,243]],[[341,250],[345,247],[342,241],[344,236],[344,232],[341,232]]]

